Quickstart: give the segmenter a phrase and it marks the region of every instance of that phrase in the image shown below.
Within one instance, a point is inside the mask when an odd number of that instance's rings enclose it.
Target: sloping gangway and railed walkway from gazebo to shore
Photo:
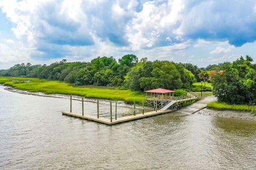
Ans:
[[[179,103],[183,101],[191,101],[198,99],[198,95],[192,91],[188,91],[187,96],[173,97],[160,108],[161,111],[166,111],[166,109],[171,108],[172,106],[179,107]]]

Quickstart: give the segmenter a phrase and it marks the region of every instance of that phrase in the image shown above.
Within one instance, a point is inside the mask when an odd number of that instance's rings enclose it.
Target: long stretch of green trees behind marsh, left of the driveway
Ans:
[[[187,67],[193,71],[194,65]],[[195,70],[197,67],[194,68]],[[191,71],[179,63],[169,61],[147,61],[129,54],[115,60],[114,57],[98,57],[91,62],[67,63],[66,60],[51,65],[16,64],[0,75],[9,77],[29,77],[47,80],[60,80],[78,86],[95,85],[124,87],[133,91],[151,88],[190,88],[195,82]]]

